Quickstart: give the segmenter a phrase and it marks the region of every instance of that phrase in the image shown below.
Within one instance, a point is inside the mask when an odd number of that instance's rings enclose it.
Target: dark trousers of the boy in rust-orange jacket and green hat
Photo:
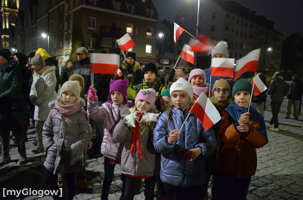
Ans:
[[[218,187],[219,194],[212,194],[212,199],[220,200],[246,200],[250,177],[238,178],[222,172],[214,172],[214,185]]]

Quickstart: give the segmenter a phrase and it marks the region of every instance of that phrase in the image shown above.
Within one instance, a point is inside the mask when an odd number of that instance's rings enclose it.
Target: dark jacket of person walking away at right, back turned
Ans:
[[[283,98],[287,95],[288,85],[281,77],[270,82],[267,94],[271,95],[271,101],[283,102]]]

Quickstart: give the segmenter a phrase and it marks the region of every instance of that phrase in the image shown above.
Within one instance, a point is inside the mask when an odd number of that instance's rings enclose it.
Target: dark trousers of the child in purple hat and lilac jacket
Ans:
[[[114,179],[114,170],[116,164],[112,164],[109,162],[107,157],[104,157],[104,180],[102,184],[102,192],[101,192],[101,200],[108,199],[109,188],[112,184]],[[125,191],[125,175],[121,174],[121,181],[122,181],[122,195],[124,196]]]

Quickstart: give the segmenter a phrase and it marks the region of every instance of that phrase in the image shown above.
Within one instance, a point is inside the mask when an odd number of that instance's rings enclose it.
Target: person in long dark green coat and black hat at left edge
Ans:
[[[9,60],[9,61],[8,61]],[[19,153],[18,164],[26,163],[25,138],[27,130],[25,102],[22,97],[22,74],[18,61],[12,59],[5,50],[0,50],[0,166],[8,163],[10,131],[16,138]]]

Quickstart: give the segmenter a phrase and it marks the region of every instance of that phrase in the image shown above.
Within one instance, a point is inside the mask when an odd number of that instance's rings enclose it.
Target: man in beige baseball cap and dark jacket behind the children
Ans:
[[[77,49],[77,59],[78,62],[75,63],[73,67],[73,74],[79,74],[83,76],[85,86],[83,89],[83,93],[86,95],[88,92],[88,88],[91,84],[91,64],[89,61],[89,53],[85,47],[79,47]],[[87,70],[89,69],[89,70]],[[94,75],[94,88],[98,91],[102,86],[102,76],[100,74]]]

